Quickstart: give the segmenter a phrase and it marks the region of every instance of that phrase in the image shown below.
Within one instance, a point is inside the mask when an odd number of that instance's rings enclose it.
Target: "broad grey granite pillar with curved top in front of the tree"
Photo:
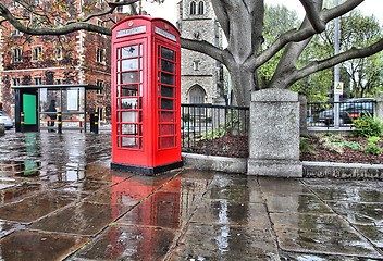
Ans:
[[[247,174],[302,176],[298,94],[284,89],[251,94]]]

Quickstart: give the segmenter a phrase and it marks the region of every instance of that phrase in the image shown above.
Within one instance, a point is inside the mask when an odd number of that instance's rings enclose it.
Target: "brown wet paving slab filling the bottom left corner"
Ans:
[[[0,239],[0,259],[10,261],[63,260],[87,241],[86,238],[67,235],[21,231]]]

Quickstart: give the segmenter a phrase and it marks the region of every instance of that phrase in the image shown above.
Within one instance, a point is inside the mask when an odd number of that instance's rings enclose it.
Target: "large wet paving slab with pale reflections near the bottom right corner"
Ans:
[[[271,213],[270,217],[286,251],[379,257],[373,246],[337,215]]]

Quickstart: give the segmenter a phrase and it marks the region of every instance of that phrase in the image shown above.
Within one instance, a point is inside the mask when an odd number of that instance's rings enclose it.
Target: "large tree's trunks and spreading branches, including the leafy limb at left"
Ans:
[[[30,0],[0,2],[1,23],[8,21],[15,28],[30,35],[63,35],[75,30],[90,30],[110,35],[111,28],[91,22],[94,17],[112,14],[118,7],[135,4],[138,0],[107,1],[102,9],[90,9],[84,1],[83,11],[86,15],[76,15],[71,10],[71,0],[58,0],[53,7],[36,5]],[[297,1],[297,0],[296,0]],[[182,47],[202,52],[224,64],[231,73],[234,95],[239,105],[250,103],[250,92],[262,88],[288,88],[297,80],[316,72],[329,69],[335,64],[370,57],[383,49],[383,38],[363,46],[353,46],[344,49],[337,55],[322,60],[309,60],[299,64],[299,58],[308,47],[312,37],[326,30],[326,25],[336,17],[347,14],[363,0],[346,0],[338,7],[323,8],[323,0],[299,0],[306,11],[306,16],[299,27],[281,32],[273,42],[264,45],[264,1],[263,0],[211,0],[217,18],[227,39],[227,47],[219,49],[205,40],[182,39]],[[18,4],[25,12],[12,13],[11,4]],[[55,25],[54,17],[59,13],[70,13],[65,23]],[[26,23],[34,18],[34,23]],[[282,52],[275,71],[268,85],[258,82],[260,67]]]

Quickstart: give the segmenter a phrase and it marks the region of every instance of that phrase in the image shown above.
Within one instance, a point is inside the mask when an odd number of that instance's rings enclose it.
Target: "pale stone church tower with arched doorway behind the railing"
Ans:
[[[222,47],[222,30],[210,0],[182,0],[177,27],[183,38],[206,40]],[[182,49],[182,103],[224,104],[223,69],[214,59]]]

